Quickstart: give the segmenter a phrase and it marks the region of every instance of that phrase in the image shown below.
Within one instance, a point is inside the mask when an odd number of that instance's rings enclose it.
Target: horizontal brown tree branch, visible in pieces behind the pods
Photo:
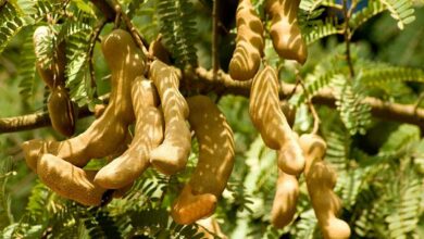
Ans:
[[[217,78],[214,80],[213,71],[208,71],[203,67],[196,70],[197,80],[192,81],[192,90],[208,89],[208,91],[220,90],[223,95],[238,95],[249,97],[252,81],[238,81],[232,79],[228,74],[219,71]],[[301,92],[302,89],[295,84],[284,84],[279,91],[279,98],[286,99],[290,92]],[[103,102],[108,101],[108,97],[102,97]],[[336,108],[336,99],[331,89],[324,88],[317,95],[312,97],[312,103],[328,105]],[[371,106],[371,113],[375,117],[385,121],[403,122],[417,125],[424,128],[424,109],[416,108],[415,104],[400,104],[382,101],[373,97],[365,97],[362,101]],[[88,110],[88,106],[83,106],[78,111],[78,118],[87,117],[93,113]],[[50,126],[51,122],[48,112],[33,113],[15,117],[0,118],[0,135],[5,133],[15,133]]]

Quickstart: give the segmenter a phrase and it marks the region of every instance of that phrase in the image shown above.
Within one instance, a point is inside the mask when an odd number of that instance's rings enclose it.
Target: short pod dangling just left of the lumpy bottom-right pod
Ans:
[[[276,228],[287,226],[296,213],[299,197],[299,183],[296,176],[278,169],[277,190],[271,211],[271,223]]]

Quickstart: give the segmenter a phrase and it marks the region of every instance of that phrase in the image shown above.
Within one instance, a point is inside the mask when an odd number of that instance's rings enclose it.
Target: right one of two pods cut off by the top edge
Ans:
[[[303,64],[308,58],[307,45],[298,25],[300,0],[267,0],[266,11],[271,15],[271,38],[279,56]]]

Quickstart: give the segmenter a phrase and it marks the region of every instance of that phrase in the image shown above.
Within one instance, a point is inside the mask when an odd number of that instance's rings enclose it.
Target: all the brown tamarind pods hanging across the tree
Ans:
[[[267,0],[265,9],[272,20],[270,33],[277,53],[303,64],[307,48],[297,25],[298,8],[299,0]],[[249,114],[264,143],[277,151],[278,179],[271,222],[280,228],[292,221],[299,196],[298,176],[303,173],[324,238],[349,238],[348,224],[337,218],[340,200],[333,192],[336,173],[323,161],[325,141],[314,134],[298,137],[291,130],[279,106],[276,71],[269,65],[260,68],[263,25],[250,0],[239,0],[236,21],[237,45],[229,74],[236,80],[253,78]],[[36,54],[39,40],[49,34],[47,27],[36,30]],[[64,88],[63,47],[58,45],[58,56],[50,65],[37,62],[37,68],[52,91],[48,109],[53,128],[72,136],[75,115]],[[171,215],[178,224],[210,216],[234,166],[233,130],[224,114],[207,96],[182,96],[180,76],[167,64],[170,60],[160,41],[150,45],[153,60],[149,67],[125,30],[110,33],[101,48],[112,73],[108,106],[76,137],[24,142],[26,163],[62,197],[84,205],[100,205],[107,191],[112,189],[113,197],[122,197],[149,166],[165,175],[184,169],[192,130],[199,144],[198,165],[174,201]],[[134,123],[132,138],[128,126]],[[84,169],[91,159],[101,158],[111,161],[99,171]]]

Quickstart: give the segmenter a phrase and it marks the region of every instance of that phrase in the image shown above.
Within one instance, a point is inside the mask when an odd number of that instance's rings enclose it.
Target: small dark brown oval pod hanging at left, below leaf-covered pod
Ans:
[[[65,88],[59,86],[53,89],[47,104],[49,117],[54,130],[64,136],[72,136],[75,131],[75,111]]]

